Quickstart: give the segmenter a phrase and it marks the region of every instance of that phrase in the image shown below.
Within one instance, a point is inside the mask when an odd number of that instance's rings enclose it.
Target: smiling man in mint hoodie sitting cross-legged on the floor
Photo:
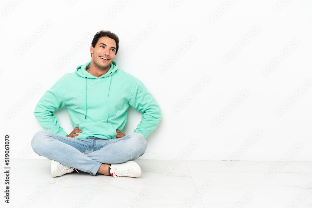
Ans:
[[[145,152],[145,138],[157,127],[161,112],[143,83],[118,69],[113,61],[118,48],[116,34],[96,33],[90,46],[91,61],[62,76],[36,105],[34,115],[46,131],[34,135],[32,148],[51,159],[53,177],[75,168],[91,175],[141,175],[132,160]],[[64,105],[74,128],[69,134],[53,114]],[[142,112],[142,119],[133,133],[125,135],[129,105]]]

